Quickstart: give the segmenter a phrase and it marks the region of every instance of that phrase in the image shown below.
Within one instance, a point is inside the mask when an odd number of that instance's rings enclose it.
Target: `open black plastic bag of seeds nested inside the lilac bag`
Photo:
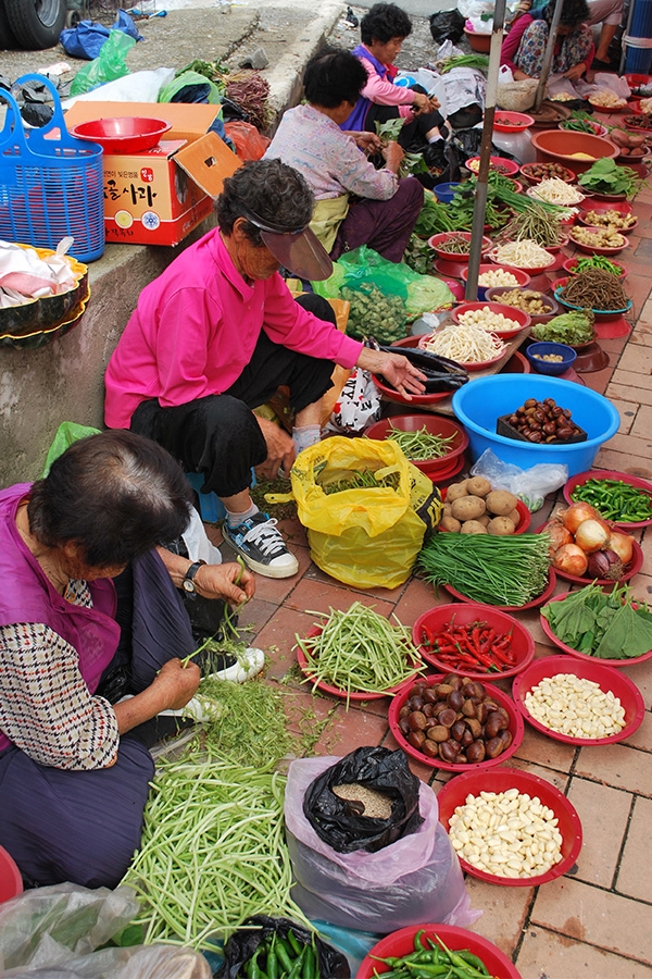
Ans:
[[[356,815],[355,803],[340,798],[333,791],[334,785],[351,783],[390,796],[389,818]],[[317,835],[337,853],[354,850],[377,853],[422,825],[418,779],[412,774],[408,757],[401,751],[356,748],[311,783],[303,797],[303,815]]]

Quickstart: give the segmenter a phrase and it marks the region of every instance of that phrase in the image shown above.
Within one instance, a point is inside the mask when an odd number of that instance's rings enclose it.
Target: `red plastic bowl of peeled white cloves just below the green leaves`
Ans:
[[[570,734],[552,731],[546,724],[542,724],[541,721],[536,720],[525,706],[525,697],[532,686],[536,686],[541,680],[548,677],[555,677],[557,673],[574,673],[582,680],[592,680],[604,693],[611,691],[625,709],[625,727],[623,730],[609,738],[575,738]],[[532,728],[536,728],[542,734],[547,734],[555,741],[562,741],[564,744],[584,746],[590,744],[614,744],[616,741],[626,741],[640,728],[645,716],[645,702],[636,683],[629,677],[626,677],[625,673],[614,670],[613,667],[602,666],[602,660],[600,659],[592,662],[580,661],[579,659],[570,662],[567,656],[544,656],[542,659],[536,659],[514,679],[512,696],[528,724],[531,724]]]

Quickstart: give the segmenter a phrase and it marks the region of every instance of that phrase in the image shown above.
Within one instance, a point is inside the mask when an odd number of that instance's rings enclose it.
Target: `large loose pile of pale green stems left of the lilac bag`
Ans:
[[[290,899],[285,779],[202,755],[163,763],[123,883],[142,897],[146,944],[217,949],[255,914],[310,922]]]

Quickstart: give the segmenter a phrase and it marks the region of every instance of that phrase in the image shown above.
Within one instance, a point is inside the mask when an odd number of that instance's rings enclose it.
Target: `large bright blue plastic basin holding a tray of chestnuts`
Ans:
[[[587,442],[572,445],[536,445],[497,435],[496,421],[511,414],[527,398],[554,398],[568,408],[588,435]],[[573,381],[537,374],[507,374],[477,377],[453,395],[453,411],[468,433],[468,451],[475,462],[490,448],[503,462],[530,469],[538,462],[568,467],[568,475],[585,472],[593,464],[600,446],[618,431],[619,416],[607,398]]]

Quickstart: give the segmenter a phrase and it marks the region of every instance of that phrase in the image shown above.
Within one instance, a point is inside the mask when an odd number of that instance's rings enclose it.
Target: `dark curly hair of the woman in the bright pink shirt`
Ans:
[[[238,218],[247,218],[247,211],[288,230],[305,227],[314,205],[312,190],[293,166],[280,160],[251,160],[225,179],[215,208],[221,230],[230,235]],[[263,244],[251,222],[244,233],[254,245]]]

